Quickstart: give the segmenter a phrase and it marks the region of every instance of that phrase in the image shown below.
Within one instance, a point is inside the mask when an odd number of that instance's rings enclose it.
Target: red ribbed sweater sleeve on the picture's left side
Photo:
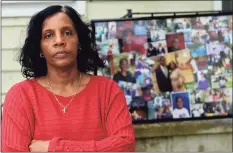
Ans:
[[[24,102],[20,95],[19,84],[7,93],[2,117],[2,151],[29,152],[32,140],[30,122]]]

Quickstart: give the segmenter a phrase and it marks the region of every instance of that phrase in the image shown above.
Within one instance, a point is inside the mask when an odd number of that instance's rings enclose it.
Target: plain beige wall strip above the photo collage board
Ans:
[[[213,1],[92,1],[87,2],[88,19],[120,18],[133,12],[210,11]]]

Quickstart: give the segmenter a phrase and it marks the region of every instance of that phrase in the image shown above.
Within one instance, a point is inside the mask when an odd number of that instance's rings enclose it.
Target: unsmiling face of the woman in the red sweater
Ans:
[[[78,44],[77,31],[66,13],[57,13],[44,21],[41,50],[47,65],[60,68],[76,66]]]

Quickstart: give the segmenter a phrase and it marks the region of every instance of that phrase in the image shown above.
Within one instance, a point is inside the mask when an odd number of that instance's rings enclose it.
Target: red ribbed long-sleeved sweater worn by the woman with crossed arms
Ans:
[[[58,96],[58,95],[57,95]],[[67,104],[70,97],[58,96]],[[50,140],[48,151],[135,151],[132,121],[123,92],[108,78],[91,76],[66,113],[35,79],[8,91],[2,118],[2,151],[29,151]]]

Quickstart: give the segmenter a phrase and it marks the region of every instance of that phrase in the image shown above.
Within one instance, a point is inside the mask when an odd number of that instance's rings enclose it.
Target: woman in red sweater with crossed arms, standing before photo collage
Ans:
[[[134,151],[119,86],[87,72],[103,67],[88,26],[71,7],[32,17],[21,50],[27,79],[7,93],[2,151]]]

